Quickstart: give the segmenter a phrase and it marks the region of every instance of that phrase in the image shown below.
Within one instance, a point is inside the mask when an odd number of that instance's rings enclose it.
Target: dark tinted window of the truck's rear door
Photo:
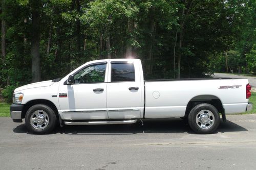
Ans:
[[[111,82],[135,81],[133,63],[112,63]]]

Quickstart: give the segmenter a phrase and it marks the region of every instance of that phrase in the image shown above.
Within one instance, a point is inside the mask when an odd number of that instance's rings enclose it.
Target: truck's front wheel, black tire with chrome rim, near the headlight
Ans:
[[[56,127],[57,116],[47,105],[33,105],[26,113],[25,123],[34,134],[49,134]]]

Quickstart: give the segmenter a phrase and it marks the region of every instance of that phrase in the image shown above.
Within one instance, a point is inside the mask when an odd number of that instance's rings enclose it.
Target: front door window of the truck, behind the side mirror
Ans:
[[[75,84],[104,82],[105,70],[106,64],[90,65],[75,74],[74,82]]]

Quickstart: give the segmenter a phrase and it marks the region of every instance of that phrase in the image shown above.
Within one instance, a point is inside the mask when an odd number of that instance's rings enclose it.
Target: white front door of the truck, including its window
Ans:
[[[64,119],[106,119],[107,63],[86,66],[74,74],[74,84],[60,85],[59,104]]]

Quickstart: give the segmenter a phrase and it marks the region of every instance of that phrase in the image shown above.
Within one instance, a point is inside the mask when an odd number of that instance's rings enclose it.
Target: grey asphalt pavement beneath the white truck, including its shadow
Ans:
[[[0,169],[255,169],[256,114],[227,115],[199,135],[180,118],[66,126],[30,134],[0,117]]]

